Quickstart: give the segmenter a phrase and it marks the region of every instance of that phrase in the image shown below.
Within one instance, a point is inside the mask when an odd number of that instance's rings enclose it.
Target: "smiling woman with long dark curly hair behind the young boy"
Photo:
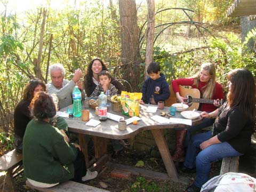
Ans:
[[[90,97],[95,87],[99,85],[100,79],[98,74],[102,70],[108,70],[108,68],[100,58],[93,59],[87,67],[86,74],[84,76],[84,89],[87,97]],[[113,76],[111,76],[110,83],[118,90],[117,94],[121,94],[121,91],[124,90],[124,86]]]

